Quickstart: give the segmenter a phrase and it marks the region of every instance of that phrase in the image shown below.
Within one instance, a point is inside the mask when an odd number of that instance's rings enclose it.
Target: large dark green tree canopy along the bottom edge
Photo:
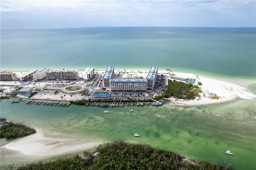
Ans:
[[[147,144],[130,144],[118,141],[99,145],[94,152],[85,151],[82,157],[76,155],[52,162],[29,164],[18,170],[230,170],[229,165],[219,166],[209,162],[190,160],[177,153]]]

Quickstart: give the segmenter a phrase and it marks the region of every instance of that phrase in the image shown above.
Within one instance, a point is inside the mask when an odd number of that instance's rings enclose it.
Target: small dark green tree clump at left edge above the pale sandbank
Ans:
[[[16,124],[16,123],[8,122],[4,118],[1,118],[0,122],[1,122],[0,123],[1,138],[7,138],[7,139],[19,138],[19,137],[27,136],[36,132],[36,130],[33,128],[22,125],[20,123]]]

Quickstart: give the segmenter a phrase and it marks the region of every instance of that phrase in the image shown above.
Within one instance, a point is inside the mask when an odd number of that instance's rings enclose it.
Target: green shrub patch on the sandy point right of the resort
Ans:
[[[167,89],[162,94],[162,97],[169,98],[172,96],[176,99],[195,99],[200,97],[199,93],[201,93],[201,90],[197,85],[168,80]]]

